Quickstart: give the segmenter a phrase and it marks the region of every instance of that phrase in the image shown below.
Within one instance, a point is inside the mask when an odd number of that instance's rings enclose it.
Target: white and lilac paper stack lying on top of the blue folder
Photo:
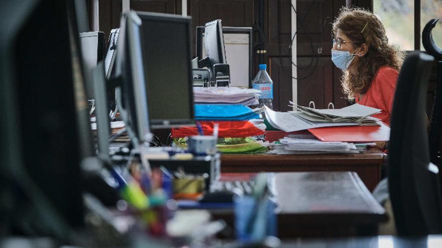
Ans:
[[[193,87],[193,101],[197,104],[257,105],[261,91],[238,87]]]

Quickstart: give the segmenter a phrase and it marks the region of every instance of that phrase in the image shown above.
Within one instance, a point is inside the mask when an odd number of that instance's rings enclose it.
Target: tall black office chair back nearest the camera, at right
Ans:
[[[411,52],[394,95],[388,186],[399,235],[442,233],[437,166],[430,163],[425,120],[426,89],[434,58]]]

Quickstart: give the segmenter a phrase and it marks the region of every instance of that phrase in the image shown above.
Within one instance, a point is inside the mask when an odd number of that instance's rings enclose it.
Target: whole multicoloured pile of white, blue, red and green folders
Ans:
[[[261,91],[238,87],[193,88],[196,127],[172,129],[175,144],[186,147],[188,136],[211,135],[213,126],[218,125],[218,151],[222,153],[262,153],[267,151],[268,142],[252,137],[265,134],[261,116],[248,106],[258,105]]]

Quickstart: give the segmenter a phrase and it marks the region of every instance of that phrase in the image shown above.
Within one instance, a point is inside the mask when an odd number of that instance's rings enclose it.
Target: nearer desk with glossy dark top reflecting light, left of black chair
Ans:
[[[387,220],[355,172],[275,173],[272,182],[281,238],[374,235]],[[233,225],[232,211],[212,215]]]

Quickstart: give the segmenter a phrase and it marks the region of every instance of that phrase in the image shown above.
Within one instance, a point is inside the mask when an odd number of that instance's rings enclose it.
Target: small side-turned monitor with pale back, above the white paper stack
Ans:
[[[227,64],[221,20],[206,23],[204,37],[204,45],[211,66],[215,64]]]

